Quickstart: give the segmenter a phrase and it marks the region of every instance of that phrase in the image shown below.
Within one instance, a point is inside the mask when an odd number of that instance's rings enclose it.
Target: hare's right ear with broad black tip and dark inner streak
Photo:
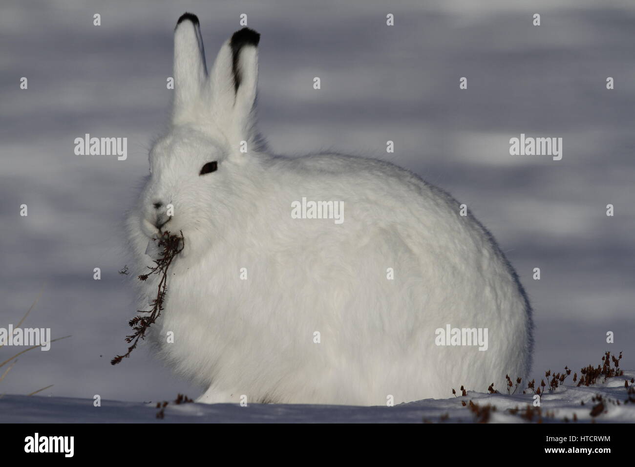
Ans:
[[[258,42],[260,34],[244,27],[223,44],[211,71],[215,112],[229,132],[250,139],[255,132],[253,108],[258,84]]]

